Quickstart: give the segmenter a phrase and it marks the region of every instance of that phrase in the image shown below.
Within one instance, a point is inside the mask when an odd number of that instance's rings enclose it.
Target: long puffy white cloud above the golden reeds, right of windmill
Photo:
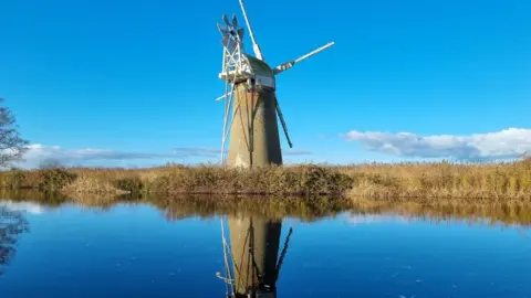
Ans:
[[[412,132],[352,130],[341,137],[347,141],[360,142],[369,151],[408,158],[492,160],[517,158],[525,151],[531,152],[531,129],[524,128],[469,136],[419,136]]]

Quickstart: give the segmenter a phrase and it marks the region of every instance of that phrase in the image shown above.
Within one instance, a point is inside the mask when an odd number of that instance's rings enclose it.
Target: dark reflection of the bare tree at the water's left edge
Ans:
[[[29,231],[29,224],[20,210],[10,207],[13,204],[0,205],[0,275],[14,256],[19,234]]]

